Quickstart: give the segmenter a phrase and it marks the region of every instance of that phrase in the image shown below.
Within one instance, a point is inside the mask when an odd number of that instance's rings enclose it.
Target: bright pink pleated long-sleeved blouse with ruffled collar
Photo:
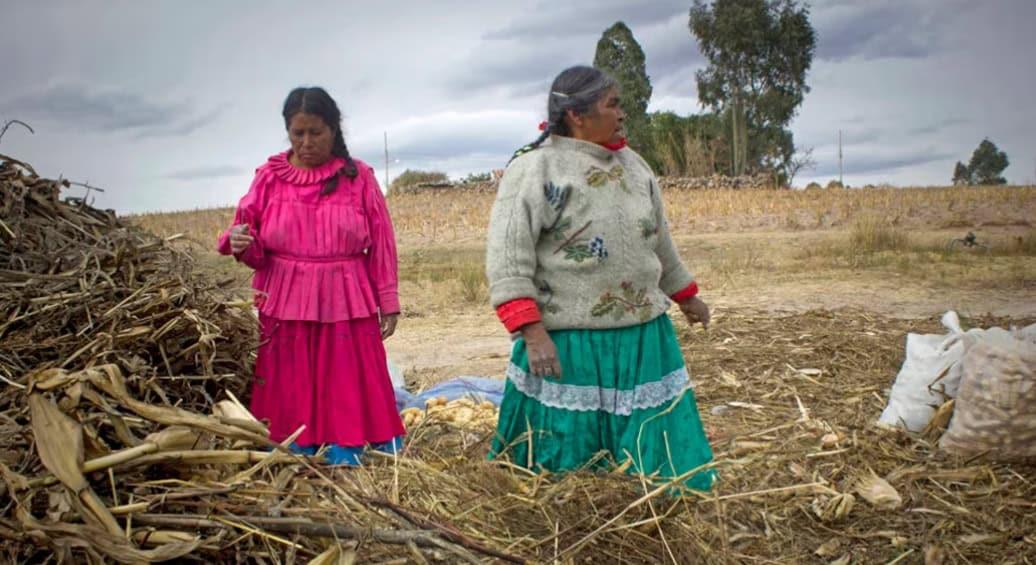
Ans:
[[[259,311],[320,322],[398,313],[396,236],[374,171],[354,160],[356,177],[340,175],[338,190],[321,196],[345,161],[300,169],[289,153],[256,170],[234,215],[255,237],[237,260],[255,270]],[[229,229],[219,251],[232,254]]]

